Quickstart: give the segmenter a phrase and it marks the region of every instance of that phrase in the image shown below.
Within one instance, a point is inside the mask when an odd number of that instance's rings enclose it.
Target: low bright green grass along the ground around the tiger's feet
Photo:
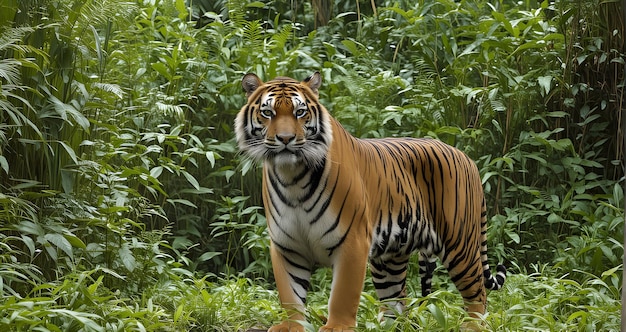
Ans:
[[[500,291],[489,293],[485,327],[494,331],[618,331],[619,279],[615,271],[580,283],[546,268],[514,274]],[[327,314],[330,271],[320,270],[309,293],[307,328],[317,331]],[[185,276],[157,281],[140,296],[106,289],[102,276],[70,275],[0,303],[0,328],[10,331],[245,331],[267,328],[282,318],[278,296],[265,280],[210,282]],[[357,331],[456,331],[467,320],[462,301],[447,276],[438,273],[433,294],[407,299],[408,310],[381,321],[369,282],[361,296]],[[409,296],[419,294],[418,280]],[[422,301],[424,300],[424,301]]]

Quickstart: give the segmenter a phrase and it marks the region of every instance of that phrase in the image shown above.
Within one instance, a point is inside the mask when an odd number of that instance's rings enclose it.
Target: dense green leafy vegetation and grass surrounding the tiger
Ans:
[[[267,327],[258,166],[237,154],[241,77],[324,77],[358,137],[430,136],[481,170],[494,330],[617,330],[624,21],[617,1],[7,0],[0,3],[0,326]],[[296,6],[299,4],[299,6]],[[360,330],[456,329],[445,271]],[[321,325],[330,285],[315,274]]]

